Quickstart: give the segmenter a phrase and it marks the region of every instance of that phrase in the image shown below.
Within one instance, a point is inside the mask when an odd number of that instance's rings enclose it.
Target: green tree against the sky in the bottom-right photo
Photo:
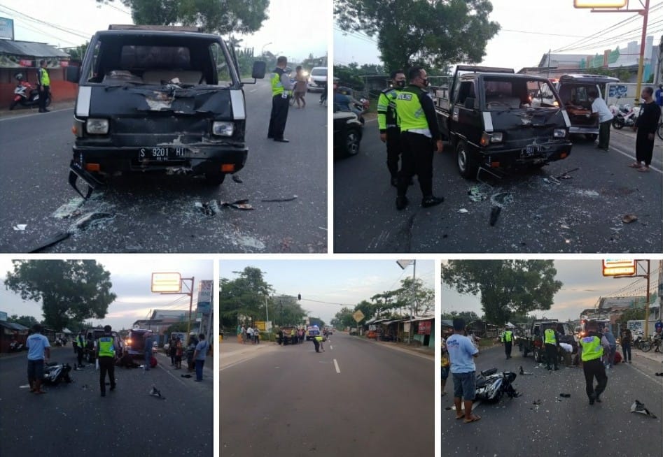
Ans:
[[[442,282],[459,293],[480,295],[485,319],[496,325],[514,312],[550,310],[562,286],[555,275],[552,260],[452,260],[442,265]]]

